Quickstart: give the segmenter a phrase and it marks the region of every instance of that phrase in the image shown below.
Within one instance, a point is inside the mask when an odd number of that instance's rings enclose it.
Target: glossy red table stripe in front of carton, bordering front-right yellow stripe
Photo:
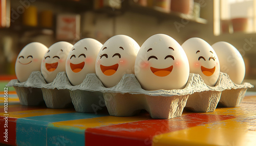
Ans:
[[[231,115],[192,113],[173,119],[150,119],[131,123],[88,128],[86,145],[151,145],[155,135],[235,118]],[[118,144],[117,144],[118,143]]]

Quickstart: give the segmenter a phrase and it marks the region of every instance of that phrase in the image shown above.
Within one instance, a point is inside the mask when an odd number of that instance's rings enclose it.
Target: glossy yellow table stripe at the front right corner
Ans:
[[[246,128],[246,123],[233,118],[157,135],[153,138],[153,145],[256,145],[255,132]]]

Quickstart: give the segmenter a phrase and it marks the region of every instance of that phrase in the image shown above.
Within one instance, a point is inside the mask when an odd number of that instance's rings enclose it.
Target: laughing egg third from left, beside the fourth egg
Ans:
[[[72,85],[79,85],[87,74],[95,73],[95,62],[102,44],[92,38],[79,40],[72,47],[66,62],[66,72]]]

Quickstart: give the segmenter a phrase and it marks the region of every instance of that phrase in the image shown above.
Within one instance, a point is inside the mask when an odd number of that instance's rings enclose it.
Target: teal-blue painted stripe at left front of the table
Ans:
[[[18,118],[16,143],[17,145],[84,145],[84,130],[56,128],[51,123],[101,116],[109,116],[109,114],[73,112]]]

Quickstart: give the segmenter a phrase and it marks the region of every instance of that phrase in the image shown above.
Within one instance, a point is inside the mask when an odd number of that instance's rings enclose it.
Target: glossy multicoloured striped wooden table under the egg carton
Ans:
[[[10,145],[256,145],[256,93],[247,92],[241,107],[210,113],[183,111],[181,117],[152,119],[147,112],[132,117],[107,111],[78,113],[71,109],[22,106],[16,92],[0,92],[0,143]],[[129,110],[129,109],[127,109]],[[5,124],[8,124],[8,142]]]

